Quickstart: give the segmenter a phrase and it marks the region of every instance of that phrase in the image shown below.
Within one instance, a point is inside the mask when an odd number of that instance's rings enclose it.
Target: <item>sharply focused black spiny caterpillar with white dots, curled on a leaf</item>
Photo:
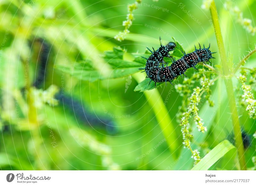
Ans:
[[[184,52],[184,56],[182,58],[175,60],[169,55],[169,52],[174,50],[176,44],[173,42],[169,42],[167,45],[163,46],[161,43],[161,38],[159,39],[161,45],[160,48],[158,48],[157,50],[154,50],[153,48],[154,52],[148,49],[152,54],[151,56],[149,56],[149,58],[145,58],[147,59],[146,67],[140,68],[145,70],[143,72],[146,72],[147,78],[150,78],[151,81],[155,82],[155,87],[157,82],[165,82],[166,84],[166,82],[169,81],[172,84],[171,80],[173,80],[177,76],[180,75],[182,77],[182,74],[186,76],[184,73],[188,68],[193,67],[197,70],[197,68],[195,67],[197,63],[203,62],[205,64],[205,62],[207,61],[210,62],[209,60],[213,58],[212,54],[216,53],[209,50],[210,44],[208,48],[201,48],[199,44],[199,49],[196,49],[195,46],[195,51],[188,54]],[[168,66],[168,63],[166,64],[166,66],[164,66],[164,57],[171,58],[171,66]],[[151,83],[151,81],[149,82],[149,84]]]

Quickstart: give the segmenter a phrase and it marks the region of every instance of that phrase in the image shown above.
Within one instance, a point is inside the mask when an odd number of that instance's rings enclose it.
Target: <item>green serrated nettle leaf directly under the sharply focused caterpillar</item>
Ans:
[[[176,47],[175,47],[175,50],[173,51],[173,53],[171,54],[171,56],[173,56],[174,58],[179,59],[183,56],[183,53],[182,51],[184,52],[184,49],[182,48],[182,46],[180,45],[180,43],[178,43],[174,38],[172,38],[174,40],[174,42],[176,43]],[[146,55],[146,54],[145,54]],[[142,58],[143,59],[143,58]],[[141,60],[141,59],[138,59],[141,61],[144,61],[144,67],[145,67],[145,60]],[[166,63],[168,63],[168,66],[170,66],[172,64],[172,60],[170,58],[166,58],[164,57],[164,61]],[[142,63],[143,64],[143,63]],[[167,64],[165,64],[167,65]],[[145,73],[146,75],[146,73]],[[150,84],[148,84],[150,82],[150,79],[149,78],[146,78],[144,81],[140,82],[134,89],[134,91],[140,91],[140,92],[143,92],[143,91],[146,91],[146,90],[152,90],[155,88],[155,82],[154,81],[151,81]],[[161,83],[156,83],[156,88],[161,86],[161,84],[163,84],[165,82],[161,82]],[[167,82],[169,83],[169,82]]]

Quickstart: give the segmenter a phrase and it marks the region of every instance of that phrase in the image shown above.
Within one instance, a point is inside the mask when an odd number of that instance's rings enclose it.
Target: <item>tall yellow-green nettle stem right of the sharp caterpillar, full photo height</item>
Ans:
[[[241,134],[241,128],[239,124],[238,113],[236,109],[236,100],[233,92],[233,82],[232,82],[232,79],[229,77],[230,69],[228,66],[228,60],[227,60],[226,51],[223,43],[223,38],[221,35],[220,23],[218,20],[218,13],[217,13],[214,0],[211,3],[210,11],[211,11],[212,22],[214,26],[217,43],[218,43],[219,53],[220,53],[222,73],[224,76],[227,77],[227,79],[225,80],[225,84],[226,84],[227,94],[229,97],[228,104],[231,111],[231,118],[233,123],[234,134],[235,134],[236,148],[238,151],[240,168],[241,170],[246,170],[246,164],[245,164],[245,158],[244,158],[244,146],[242,141],[242,134]]]

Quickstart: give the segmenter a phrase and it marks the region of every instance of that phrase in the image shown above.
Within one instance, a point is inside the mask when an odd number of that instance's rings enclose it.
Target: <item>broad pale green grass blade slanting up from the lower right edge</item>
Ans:
[[[199,161],[191,170],[208,170],[222,156],[224,156],[226,153],[228,153],[228,151],[234,148],[234,145],[232,145],[228,140],[220,142],[208,154],[206,154],[204,158],[201,159],[201,161]]]

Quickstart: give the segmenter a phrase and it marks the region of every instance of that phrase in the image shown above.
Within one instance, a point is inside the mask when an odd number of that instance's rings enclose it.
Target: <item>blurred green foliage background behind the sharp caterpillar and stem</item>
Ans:
[[[148,93],[134,89],[140,82],[137,80],[145,78],[138,70],[145,65],[140,56],[145,54],[146,47],[159,46],[159,36],[164,43],[175,37],[186,52],[193,51],[196,43],[211,43],[211,50],[218,51],[210,12],[200,8],[201,0],[183,3],[143,0],[134,11],[130,33],[120,43],[114,36],[123,30],[127,4],[131,3],[131,0],[0,2],[1,170],[187,170],[193,167],[189,150],[183,149],[180,120],[176,118],[182,112],[180,106],[185,104],[180,92],[170,84],[162,84]],[[216,3],[226,49],[237,64],[254,48],[255,36],[237,24],[221,2]],[[254,23],[256,2],[239,1],[237,5],[244,17]],[[79,100],[88,112],[113,120],[117,133],[110,134],[94,123],[78,120],[61,102],[49,105],[44,100],[38,105],[43,98],[35,94],[32,84],[40,66],[39,38],[50,46],[46,77],[39,93],[50,94],[48,88],[55,85],[65,95]],[[215,66],[220,64],[220,59],[218,53],[214,56]],[[245,67],[254,67],[255,63],[254,55]],[[189,69],[187,75],[192,77],[194,73]],[[181,77],[177,81],[183,84]],[[198,84],[185,86],[192,90]],[[235,86],[241,127],[252,135],[256,130],[255,120],[239,106],[242,92],[237,82]],[[255,86],[253,91],[255,94]],[[150,98],[164,102],[162,107],[167,114],[156,114],[154,104],[148,101]],[[232,133],[228,97],[221,82],[212,86],[212,101],[214,107],[202,100],[199,111],[208,131],[201,134],[194,125],[191,129],[192,147],[200,150],[201,157]],[[168,139],[161,128],[163,125],[159,124],[161,117],[168,121],[168,131],[173,130]],[[175,140],[170,141],[173,136]],[[254,140],[245,150],[247,167],[254,166],[255,155]],[[237,170],[237,162],[236,153],[229,151],[210,169]]]

